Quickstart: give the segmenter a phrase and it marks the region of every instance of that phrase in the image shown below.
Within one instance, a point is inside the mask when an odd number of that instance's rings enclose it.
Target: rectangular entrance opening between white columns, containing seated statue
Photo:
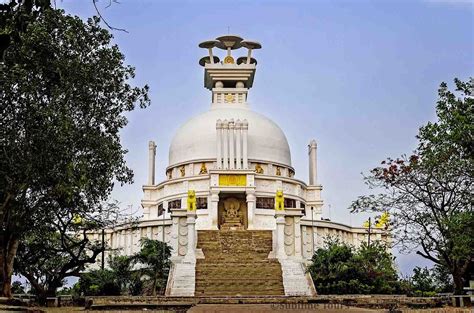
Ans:
[[[247,229],[247,203],[245,194],[222,194],[218,206],[219,229]]]

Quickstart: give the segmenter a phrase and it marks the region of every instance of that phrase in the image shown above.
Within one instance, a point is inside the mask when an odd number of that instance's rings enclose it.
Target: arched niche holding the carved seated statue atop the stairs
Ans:
[[[245,202],[236,198],[225,199],[220,208],[220,225],[223,230],[243,230],[246,224]]]

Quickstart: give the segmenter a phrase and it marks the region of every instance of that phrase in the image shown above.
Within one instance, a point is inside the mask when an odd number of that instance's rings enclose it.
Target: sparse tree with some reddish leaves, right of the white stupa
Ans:
[[[446,267],[462,293],[474,260],[474,80],[455,79],[458,96],[439,89],[437,121],[420,128],[409,157],[388,158],[365,177],[378,194],[361,196],[352,211],[389,211],[395,243]]]

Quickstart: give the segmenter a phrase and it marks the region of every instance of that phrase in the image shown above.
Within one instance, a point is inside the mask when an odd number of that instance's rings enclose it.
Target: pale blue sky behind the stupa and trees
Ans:
[[[418,128],[435,120],[441,82],[474,76],[473,1],[120,0],[106,8],[109,0],[100,0],[106,21],[127,30],[113,31],[113,42],[152,100],[127,114],[121,140],[135,182],[112,197],[139,210],[149,140],[157,143],[157,181],[165,179],[173,134],[210,107],[198,65],[207,51],[198,43],[230,32],[263,46],[253,55],[249,102],[285,132],[296,178],[308,180],[314,138],[323,216],[361,225],[367,215],[347,208],[370,192],[362,173],[416,147]],[[96,14],[90,0],[56,4],[84,19]],[[429,264],[394,252],[403,273]]]

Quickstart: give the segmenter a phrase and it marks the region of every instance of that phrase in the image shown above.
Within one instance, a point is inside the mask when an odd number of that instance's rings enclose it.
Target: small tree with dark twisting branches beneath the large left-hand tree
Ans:
[[[116,204],[108,206],[107,213],[117,211]],[[89,214],[78,222],[77,215],[67,210],[56,213],[51,224],[35,227],[24,236],[14,262],[14,271],[28,279],[40,302],[56,296],[65,278],[79,277],[88,264],[95,263],[107,247],[92,240],[90,233],[98,233],[112,221],[111,214]]]

